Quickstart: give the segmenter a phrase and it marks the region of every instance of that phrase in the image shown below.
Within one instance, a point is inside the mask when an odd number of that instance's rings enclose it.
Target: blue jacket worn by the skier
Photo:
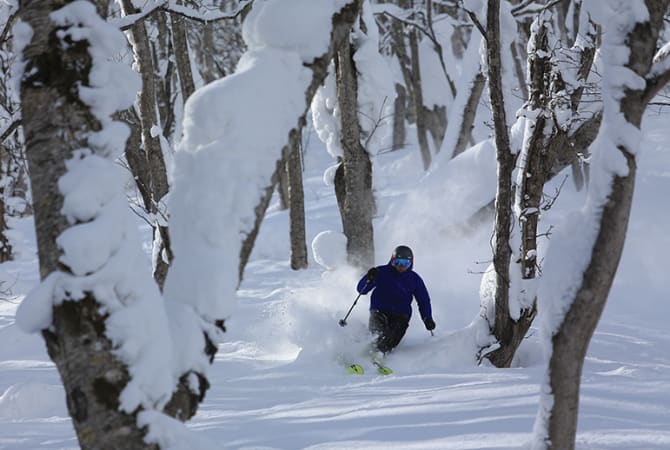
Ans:
[[[366,283],[367,274],[358,282],[357,290],[367,294],[372,289],[370,311],[377,310],[395,315],[412,317],[412,298],[419,305],[421,319],[432,319],[430,296],[426,285],[412,266],[404,272],[398,272],[389,262],[385,266],[377,266],[377,278]]]

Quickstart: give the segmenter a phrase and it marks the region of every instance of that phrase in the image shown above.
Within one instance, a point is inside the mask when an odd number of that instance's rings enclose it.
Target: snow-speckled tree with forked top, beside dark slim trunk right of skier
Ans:
[[[496,348],[489,349],[486,357],[497,367],[509,367],[535,317],[538,224],[543,209],[549,207],[543,204],[544,186],[552,170],[559,165],[557,161],[564,151],[561,146],[583,120],[578,108],[595,53],[596,31],[586,16],[581,23],[580,40],[572,48],[564,48],[553,32],[554,14],[545,8],[531,25],[527,69],[529,99],[518,114],[523,139],[520,152],[512,157],[513,167],[518,168],[513,186],[513,217],[517,226],[508,235],[512,259],[507,268],[494,264],[496,302],[491,328]],[[579,64],[575,65],[575,61]],[[501,171],[499,175],[503,176]],[[511,171],[504,176],[511,176]],[[496,228],[496,250],[498,236]],[[499,268],[509,272],[501,278]],[[504,280],[506,284],[498,284]],[[505,303],[507,310],[501,311]]]

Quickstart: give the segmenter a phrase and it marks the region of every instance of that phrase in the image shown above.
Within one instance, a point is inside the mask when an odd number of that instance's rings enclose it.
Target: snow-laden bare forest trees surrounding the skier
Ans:
[[[491,230],[472,359],[508,369],[539,328],[532,448],[575,448],[643,117],[670,106],[669,5],[0,2],[0,263],[21,253],[12,224],[34,223],[40,282],[16,323],[41,336],[78,445],[180,448],[165,429],[206,401],[273,199],[291,271],[319,256],[303,178],[314,134],[350,269],[387,254],[380,155],[414,154],[433,187],[414,195],[459,205],[445,223],[431,204],[423,231]],[[585,201],[554,229],[543,219],[566,182]]]

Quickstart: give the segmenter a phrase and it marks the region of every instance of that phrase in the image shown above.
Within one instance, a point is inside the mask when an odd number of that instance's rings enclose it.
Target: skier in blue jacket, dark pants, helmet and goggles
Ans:
[[[393,350],[405,335],[412,316],[412,298],[416,298],[426,329],[435,329],[428,290],[413,266],[412,249],[400,245],[388,264],[371,268],[358,282],[360,294],[372,290],[368,327],[376,336],[375,350],[383,354]]]

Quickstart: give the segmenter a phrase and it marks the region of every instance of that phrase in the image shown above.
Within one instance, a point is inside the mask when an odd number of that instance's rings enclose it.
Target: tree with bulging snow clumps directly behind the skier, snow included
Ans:
[[[379,31],[369,2],[349,41],[338,49],[332,74],[312,104],[319,138],[337,158],[334,181],[350,264],[374,262],[373,160],[390,140],[394,82],[379,52]],[[335,167],[335,166],[334,166]]]

